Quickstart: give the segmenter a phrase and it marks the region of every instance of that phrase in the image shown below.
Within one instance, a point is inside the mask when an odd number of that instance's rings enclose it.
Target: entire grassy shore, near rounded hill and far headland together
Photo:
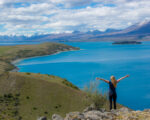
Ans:
[[[0,119],[35,120],[38,116],[50,117],[53,113],[64,115],[70,110],[83,108],[83,93],[64,79],[9,72],[15,68],[11,63],[14,60],[78,49],[59,43],[1,46]]]

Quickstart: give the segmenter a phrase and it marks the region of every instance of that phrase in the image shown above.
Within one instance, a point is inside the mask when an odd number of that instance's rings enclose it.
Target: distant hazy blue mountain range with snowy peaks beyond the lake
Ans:
[[[6,41],[149,41],[150,40],[150,21],[142,21],[136,23],[126,29],[116,30],[107,29],[106,31],[88,31],[80,32],[74,31],[72,33],[60,34],[35,34],[31,37],[26,36],[0,36],[1,42]]]

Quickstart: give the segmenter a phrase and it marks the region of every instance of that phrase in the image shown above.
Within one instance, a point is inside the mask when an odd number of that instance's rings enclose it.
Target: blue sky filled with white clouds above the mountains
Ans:
[[[0,0],[0,35],[123,29],[150,19],[149,0]]]

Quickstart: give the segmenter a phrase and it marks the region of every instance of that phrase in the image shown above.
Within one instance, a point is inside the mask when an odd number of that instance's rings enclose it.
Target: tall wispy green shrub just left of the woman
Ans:
[[[96,109],[100,109],[104,107],[104,105],[107,102],[107,95],[102,94],[100,90],[98,89],[99,82],[94,81],[90,82],[88,86],[84,87],[84,91],[87,94],[87,99],[90,101],[90,103],[94,104]]]

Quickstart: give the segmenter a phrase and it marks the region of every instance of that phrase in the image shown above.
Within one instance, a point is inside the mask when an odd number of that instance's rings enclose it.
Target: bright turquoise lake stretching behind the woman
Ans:
[[[150,108],[150,42],[141,45],[112,45],[111,42],[65,43],[79,51],[24,59],[16,65],[20,72],[52,74],[66,78],[83,89],[96,77],[110,79],[127,74],[117,86],[117,102],[135,110]],[[100,81],[99,89],[108,92]]]

